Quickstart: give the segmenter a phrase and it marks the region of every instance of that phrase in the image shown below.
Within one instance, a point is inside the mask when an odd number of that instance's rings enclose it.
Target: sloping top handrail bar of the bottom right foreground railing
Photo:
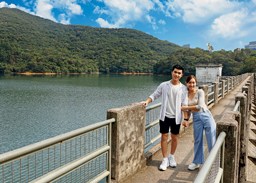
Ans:
[[[212,147],[212,150],[209,152],[209,155],[207,156],[206,160],[204,161],[204,164],[202,165],[197,176],[195,177],[195,180],[193,181],[193,183],[205,183],[220,149],[222,150],[221,151],[220,168],[223,169],[222,158],[224,158],[224,157],[222,157],[222,156],[224,155],[225,137],[226,137],[225,132],[221,132],[219,134],[214,146]]]

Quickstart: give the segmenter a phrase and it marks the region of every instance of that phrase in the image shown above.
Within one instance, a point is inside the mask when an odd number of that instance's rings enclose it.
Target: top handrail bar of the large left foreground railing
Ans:
[[[52,138],[43,140],[41,142],[31,144],[29,146],[25,146],[10,152],[0,154],[0,166],[7,164],[9,162],[18,160],[22,157],[29,156],[30,154],[35,154],[36,152],[42,151],[44,149],[48,149],[52,146],[56,146],[60,143],[66,142],[67,140],[74,139],[80,136],[81,134],[86,134],[102,126],[107,126],[109,123],[113,123],[113,122],[115,122],[115,119],[111,118],[109,120],[105,120],[105,121],[95,123],[80,129],[76,129],[71,132],[67,132],[67,133],[58,135],[56,137],[52,137]]]

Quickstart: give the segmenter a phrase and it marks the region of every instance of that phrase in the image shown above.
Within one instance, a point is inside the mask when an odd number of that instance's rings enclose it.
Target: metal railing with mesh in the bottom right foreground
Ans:
[[[225,137],[219,134],[193,183],[223,183]]]

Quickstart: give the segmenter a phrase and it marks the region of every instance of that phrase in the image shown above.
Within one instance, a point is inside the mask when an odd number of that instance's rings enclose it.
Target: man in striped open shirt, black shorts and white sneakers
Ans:
[[[178,134],[180,133],[180,124],[187,127],[189,122],[189,113],[184,111],[182,119],[181,106],[188,106],[187,87],[180,83],[180,77],[183,76],[183,67],[175,65],[172,68],[172,80],[161,83],[157,90],[148,97],[148,100],[140,102],[145,107],[162,96],[162,106],[160,110],[159,124],[161,135],[161,149],[163,161],[160,170],[166,170],[168,166],[176,167],[174,153],[178,145]],[[183,122],[182,122],[183,121]],[[171,153],[167,156],[169,129],[171,128]]]

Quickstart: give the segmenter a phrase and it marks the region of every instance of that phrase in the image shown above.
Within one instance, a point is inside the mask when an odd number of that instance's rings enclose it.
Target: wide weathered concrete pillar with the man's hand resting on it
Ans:
[[[145,107],[139,103],[109,109],[107,119],[115,118],[111,134],[111,178],[123,183],[146,165]]]

